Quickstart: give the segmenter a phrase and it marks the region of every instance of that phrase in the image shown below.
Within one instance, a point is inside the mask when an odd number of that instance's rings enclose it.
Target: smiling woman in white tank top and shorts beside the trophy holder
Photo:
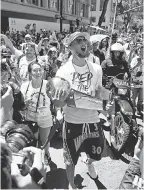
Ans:
[[[43,67],[37,63],[28,66],[31,81],[25,82],[21,86],[21,92],[26,102],[25,120],[37,122],[39,126],[40,142],[43,145],[49,136],[53,125],[50,111],[50,99],[46,94],[47,81],[43,80]],[[49,145],[45,148],[46,163],[49,163]]]

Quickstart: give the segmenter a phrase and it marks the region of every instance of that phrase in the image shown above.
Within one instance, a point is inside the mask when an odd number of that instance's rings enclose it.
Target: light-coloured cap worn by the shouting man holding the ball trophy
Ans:
[[[89,42],[90,42],[90,35],[87,32],[74,32],[68,36],[66,36],[66,38],[63,40],[64,45],[66,47],[69,47],[71,45],[71,43],[78,37],[84,37],[86,38]]]

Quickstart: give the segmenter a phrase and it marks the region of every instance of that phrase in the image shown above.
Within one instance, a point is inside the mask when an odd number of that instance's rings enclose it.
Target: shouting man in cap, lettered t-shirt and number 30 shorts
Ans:
[[[75,32],[69,36],[72,57],[57,71],[56,76],[67,80],[73,94],[64,107],[64,160],[71,188],[75,189],[74,170],[81,148],[88,155],[85,163],[89,175],[96,179],[92,162],[101,159],[104,146],[103,130],[97,110],[102,110],[102,68],[86,59],[89,34]]]

